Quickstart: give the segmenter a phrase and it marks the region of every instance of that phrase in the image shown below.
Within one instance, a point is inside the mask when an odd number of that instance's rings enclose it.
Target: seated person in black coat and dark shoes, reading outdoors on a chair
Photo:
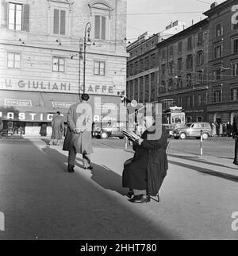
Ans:
[[[168,169],[165,127],[161,126],[162,132],[158,133],[159,126],[155,126],[152,114],[144,122],[147,130],[138,142],[133,142],[134,157],[125,164],[122,174],[123,187],[130,188],[128,196],[132,203],[148,203],[150,196],[158,196]]]

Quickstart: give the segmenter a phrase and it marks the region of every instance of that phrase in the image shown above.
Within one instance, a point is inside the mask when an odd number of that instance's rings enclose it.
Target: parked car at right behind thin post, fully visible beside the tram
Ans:
[[[212,136],[212,127],[209,122],[190,122],[184,128],[178,128],[174,131],[174,138],[202,138],[207,139]]]

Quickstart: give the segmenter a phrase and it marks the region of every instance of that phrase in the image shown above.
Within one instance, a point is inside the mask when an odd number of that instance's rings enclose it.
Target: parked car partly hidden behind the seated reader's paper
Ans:
[[[97,138],[109,138],[109,137],[117,137],[117,138],[125,138],[124,134],[122,134],[120,128],[125,128],[125,122],[107,122],[102,123],[101,126],[97,126],[94,129],[94,136]]]

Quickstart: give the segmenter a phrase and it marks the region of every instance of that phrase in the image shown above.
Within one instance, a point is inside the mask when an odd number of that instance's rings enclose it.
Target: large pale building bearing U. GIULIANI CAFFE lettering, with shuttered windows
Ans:
[[[126,89],[126,0],[2,0],[0,33],[5,129],[38,135],[43,123],[50,133],[56,111],[66,120],[83,93],[85,36],[85,92],[94,121],[117,111]]]

